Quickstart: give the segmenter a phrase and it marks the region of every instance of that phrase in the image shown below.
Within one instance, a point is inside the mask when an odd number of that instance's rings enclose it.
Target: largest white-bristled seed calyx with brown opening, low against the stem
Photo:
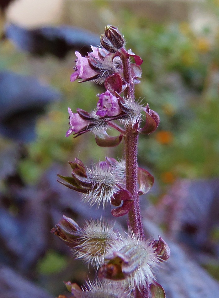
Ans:
[[[154,280],[154,268],[160,262],[151,242],[141,240],[130,232],[127,239],[116,243],[99,269],[99,277],[128,282],[129,287],[141,288]]]

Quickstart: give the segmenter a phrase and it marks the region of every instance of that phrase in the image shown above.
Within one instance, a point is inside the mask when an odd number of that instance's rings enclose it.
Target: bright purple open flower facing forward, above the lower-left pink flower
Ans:
[[[121,113],[121,109],[118,104],[118,99],[107,90],[100,94],[99,101],[97,103],[96,115],[100,117],[104,116],[116,116]]]

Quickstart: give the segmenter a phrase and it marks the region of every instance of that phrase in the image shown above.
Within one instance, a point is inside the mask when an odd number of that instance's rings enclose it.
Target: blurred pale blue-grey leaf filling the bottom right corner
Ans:
[[[145,216],[143,216],[145,218]],[[168,298],[214,298],[219,293],[219,283],[201,268],[188,252],[162,235],[151,221],[143,221],[147,237],[161,235],[170,248],[170,258],[163,262],[155,276]]]

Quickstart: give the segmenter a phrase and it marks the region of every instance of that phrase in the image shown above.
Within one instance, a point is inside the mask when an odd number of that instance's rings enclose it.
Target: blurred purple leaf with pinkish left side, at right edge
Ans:
[[[210,238],[219,222],[219,179],[177,181],[159,204],[157,214],[172,237],[193,249],[218,256]]]

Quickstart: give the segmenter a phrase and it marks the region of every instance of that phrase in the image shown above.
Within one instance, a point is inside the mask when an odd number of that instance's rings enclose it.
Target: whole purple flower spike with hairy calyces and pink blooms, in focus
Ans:
[[[63,216],[52,229],[69,247],[74,257],[97,268],[97,279],[80,288],[67,282],[67,289],[76,298],[149,298],[165,297],[154,278],[154,269],[169,257],[164,240],[146,240],[141,220],[139,196],[146,194],[154,183],[153,176],[138,167],[138,135],[151,134],[159,125],[158,114],[149,105],[135,100],[134,86],[141,77],[142,59],[126,50],[125,40],[114,26],[106,26],[101,46],[91,46],[83,57],[76,52],[76,66],[71,81],[93,81],[104,84],[106,91],[98,94],[97,108],[88,113],[69,108],[69,129],[66,136],[80,136],[91,131],[98,146],[117,146],[124,140],[124,159],[106,157],[92,168],[75,158],[69,162],[71,176],[58,175],[59,181],[81,193],[83,203],[103,208],[109,205],[112,216],[128,214],[128,234],[115,231],[103,218],[91,219],[83,227]],[[135,63],[131,63],[134,59]],[[142,113],[145,113],[145,123]],[[118,124],[119,123],[119,124]],[[113,128],[118,136],[110,136]],[[59,296],[64,297],[63,295]]]

